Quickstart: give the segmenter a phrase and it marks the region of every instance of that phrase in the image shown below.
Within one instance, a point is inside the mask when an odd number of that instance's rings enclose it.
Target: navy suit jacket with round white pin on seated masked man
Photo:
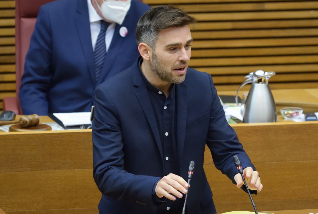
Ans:
[[[107,36],[112,39],[106,42],[107,55],[96,81],[91,32],[105,20],[97,2],[103,0],[58,0],[41,6],[19,94],[24,114],[90,111],[96,86],[134,63],[139,55],[136,24],[150,7],[131,0],[123,23],[108,27],[106,41]]]

